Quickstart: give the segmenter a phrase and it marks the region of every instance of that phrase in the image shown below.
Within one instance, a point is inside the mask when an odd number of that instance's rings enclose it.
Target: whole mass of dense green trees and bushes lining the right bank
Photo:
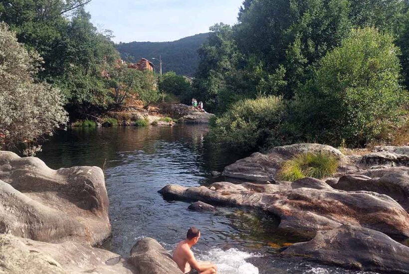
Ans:
[[[263,128],[246,136],[257,142],[238,141],[240,149],[296,141],[366,145],[405,115],[408,6],[406,0],[245,0],[236,25],[210,29],[193,96],[230,123],[243,100],[283,98],[277,130],[259,137],[276,127],[261,119]],[[256,114],[244,113],[237,121],[258,125]],[[230,143],[237,130],[216,123],[212,132]]]

